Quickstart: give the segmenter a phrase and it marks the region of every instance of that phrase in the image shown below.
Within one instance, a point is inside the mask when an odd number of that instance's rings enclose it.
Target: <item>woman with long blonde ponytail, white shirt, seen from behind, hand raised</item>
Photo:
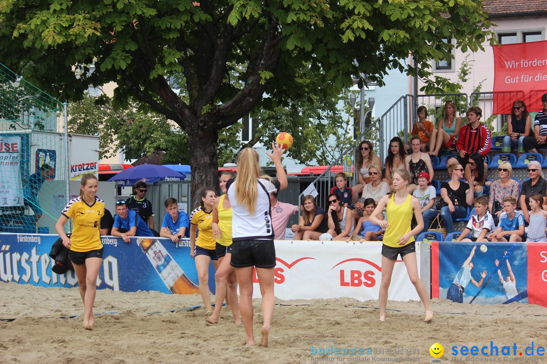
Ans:
[[[287,187],[287,175],[281,164],[284,149],[272,143],[277,180],[261,176],[258,153],[243,149],[237,158],[237,178],[227,183],[232,205],[232,257],[240,288],[240,313],[247,335],[247,345],[254,345],[253,336],[253,268],[257,270],[262,294],[264,323],[259,346],[268,345],[270,324],[274,315],[274,268],[276,265],[274,228],[271,219],[270,193]]]

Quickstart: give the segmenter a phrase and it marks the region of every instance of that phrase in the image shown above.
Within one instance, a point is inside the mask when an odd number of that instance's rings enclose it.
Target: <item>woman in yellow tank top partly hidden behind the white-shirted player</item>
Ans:
[[[217,291],[214,295],[214,311],[205,320],[210,324],[217,324],[220,317],[222,302],[228,290],[228,304],[234,315],[234,322],[241,323],[239,305],[237,303],[237,277],[235,268],[230,265],[232,258],[232,206],[226,194],[226,182],[235,178],[235,172],[224,171],[220,175],[220,190],[223,195],[214,200],[213,204],[213,237],[217,240],[217,257],[220,265],[214,273],[214,282]]]

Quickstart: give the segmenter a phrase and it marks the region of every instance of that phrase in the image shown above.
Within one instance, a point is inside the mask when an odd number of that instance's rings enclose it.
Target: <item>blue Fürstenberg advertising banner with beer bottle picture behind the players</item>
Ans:
[[[57,275],[51,271],[54,260],[48,255],[59,235],[0,233],[0,281],[42,287],[74,287],[73,271]],[[197,293],[194,259],[190,241],[173,243],[166,238],[102,236],[103,264],[97,288],[135,292]],[[210,265],[209,288],[214,294],[214,268]]]

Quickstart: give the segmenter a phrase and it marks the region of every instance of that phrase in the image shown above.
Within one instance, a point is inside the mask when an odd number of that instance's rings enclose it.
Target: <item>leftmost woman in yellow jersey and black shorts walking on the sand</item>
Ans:
[[[104,202],[97,198],[97,177],[85,174],[80,181],[80,195],[68,202],[55,224],[63,245],[70,249],[80,296],[84,302],[84,329],[92,330],[95,324],[93,305],[95,302],[97,276],[102,263],[103,247],[99,228],[104,216]],[[65,234],[64,226],[72,218],[72,235]]]

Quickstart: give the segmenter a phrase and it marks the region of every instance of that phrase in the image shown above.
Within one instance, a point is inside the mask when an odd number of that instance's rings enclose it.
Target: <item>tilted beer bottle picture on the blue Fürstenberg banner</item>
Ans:
[[[138,238],[137,244],[146,254],[168,290],[177,294],[200,293],[199,286],[190,281],[159,240]]]

